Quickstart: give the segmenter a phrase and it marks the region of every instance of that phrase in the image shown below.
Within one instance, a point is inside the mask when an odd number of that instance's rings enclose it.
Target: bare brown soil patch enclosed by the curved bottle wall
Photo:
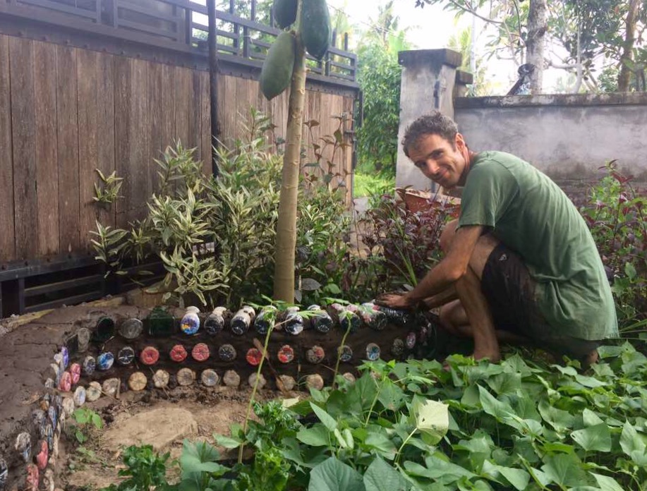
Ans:
[[[166,393],[128,392],[120,401],[99,399],[105,401],[104,406],[95,409],[105,427],[91,430],[83,446],[75,442],[68,430],[70,434],[61,441],[64,457],[57,464],[58,485],[66,491],[80,491],[100,490],[119,483],[118,474],[124,468],[121,452],[128,444],[152,444],[156,451],[168,452],[172,462],[179,460],[184,438],[204,440],[219,449],[222,459],[236,459],[235,451],[217,446],[214,435],[229,436],[233,423],[243,423],[250,395],[250,389],[177,387]],[[262,390],[256,399],[264,401],[279,395]],[[176,416],[181,416],[179,425],[159,424]],[[162,441],[164,444],[159,444]],[[178,466],[168,466],[167,479],[174,482],[178,478]]]

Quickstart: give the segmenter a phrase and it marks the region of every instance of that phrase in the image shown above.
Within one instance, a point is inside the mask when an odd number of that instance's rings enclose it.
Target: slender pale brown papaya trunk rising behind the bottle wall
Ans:
[[[274,299],[294,303],[294,249],[296,247],[296,201],[301,168],[301,133],[303,105],[306,100],[306,51],[296,37],[296,56],[290,85],[286,147],[283,156],[283,176],[277,247],[274,253]]]

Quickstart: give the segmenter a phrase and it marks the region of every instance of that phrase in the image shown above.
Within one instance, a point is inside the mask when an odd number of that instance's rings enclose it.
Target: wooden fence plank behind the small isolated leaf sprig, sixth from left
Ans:
[[[97,67],[97,168],[104,175],[115,170],[114,152],[114,56],[99,54]],[[123,177],[123,176],[119,176]],[[108,210],[99,209],[99,221],[114,226],[116,203]]]

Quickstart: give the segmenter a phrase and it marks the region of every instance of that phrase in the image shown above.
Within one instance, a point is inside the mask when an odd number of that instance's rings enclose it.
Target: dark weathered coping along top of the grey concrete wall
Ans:
[[[506,95],[500,97],[456,97],[454,104],[456,109],[536,106],[643,106],[647,105],[647,92],[615,92],[612,94]]]

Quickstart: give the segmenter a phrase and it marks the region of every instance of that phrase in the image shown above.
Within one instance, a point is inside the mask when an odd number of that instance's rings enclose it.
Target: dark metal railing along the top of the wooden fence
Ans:
[[[213,0],[215,1],[215,0]],[[220,54],[262,61],[281,30],[258,22],[256,0],[250,2],[248,18],[238,16],[234,0],[226,11],[216,10],[217,49]],[[189,0],[0,0],[0,16],[40,20],[66,28],[207,54],[207,6]],[[267,17],[267,16],[266,16]],[[269,22],[272,23],[270,13]],[[356,55],[348,51],[348,37],[341,48],[337,36],[322,61],[308,59],[310,71],[342,80],[356,80]]]

